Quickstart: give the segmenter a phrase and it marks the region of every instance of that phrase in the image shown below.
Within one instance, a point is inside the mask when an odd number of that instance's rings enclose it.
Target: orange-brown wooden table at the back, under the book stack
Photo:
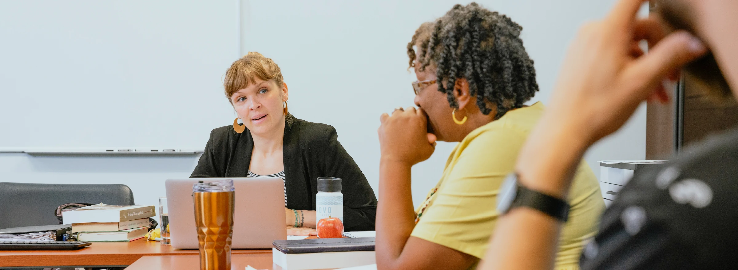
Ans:
[[[269,257],[270,265],[272,262],[272,249],[233,249],[232,253],[263,254]],[[199,261],[197,254],[197,249],[174,249],[172,246],[162,245],[159,241],[145,239],[130,243],[94,242],[91,246],[79,250],[2,250],[0,268],[125,267],[145,255],[194,255],[193,257]]]

